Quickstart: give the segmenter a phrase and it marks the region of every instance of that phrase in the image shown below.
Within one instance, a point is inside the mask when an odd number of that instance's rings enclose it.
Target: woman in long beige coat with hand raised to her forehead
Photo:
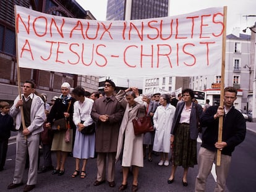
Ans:
[[[133,91],[131,91],[133,90]],[[134,126],[132,120],[138,115],[143,117],[145,115],[146,102],[142,101],[139,97],[139,92],[136,88],[129,88],[126,91],[121,91],[119,94],[126,95],[126,111],[122,119],[121,127],[119,130],[119,137],[117,142],[117,154],[118,160],[122,152],[122,185],[119,187],[119,191],[126,190],[127,177],[129,173],[129,167],[132,166],[133,183],[132,191],[138,190],[138,175],[139,167],[143,167],[143,134],[134,135]]]

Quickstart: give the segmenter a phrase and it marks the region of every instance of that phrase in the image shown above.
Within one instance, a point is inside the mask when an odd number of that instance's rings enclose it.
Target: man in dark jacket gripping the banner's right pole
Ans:
[[[237,90],[231,86],[224,88],[224,107],[211,106],[203,113],[200,124],[205,127],[202,134],[202,146],[198,152],[198,175],[195,179],[195,191],[205,191],[207,177],[216,161],[217,150],[221,151],[221,164],[216,166],[215,192],[224,191],[228,177],[231,154],[245,138],[246,124],[241,112],[233,104]],[[218,142],[219,118],[223,117],[222,141]]]

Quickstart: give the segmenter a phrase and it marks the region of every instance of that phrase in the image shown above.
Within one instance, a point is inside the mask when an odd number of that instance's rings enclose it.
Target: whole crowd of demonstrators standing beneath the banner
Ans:
[[[121,161],[122,183],[118,190],[127,189],[131,170],[131,190],[137,191],[143,161],[152,162],[152,154],[156,153],[160,157],[158,165],[168,167],[171,152],[171,175],[167,183],[175,181],[177,167],[182,166],[182,185],[188,186],[189,167],[198,164],[195,191],[205,191],[219,150],[221,165],[216,166],[215,191],[224,191],[231,154],[245,138],[244,117],[233,106],[237,94],[233,87],[224,89],[223,107],[210,106],[207,101],[203,108],[195,101],[194,91],[188,88],[177,98],[175,93],[140,95],[135,87],[116,92],[111,80],[105,81],[103,94],[88,93],[81,86],[72,89],[64,82],[61,95],[51,99],[51,106],[46,104],[46,94],[36,92],[33,80],[25,81],[22,90],[23,94],[17,96],[12,106],[0,102],[0,171],[4,169],[10,131],[17,131],[14,178],[7,186],[9,190],[23,185],[26,161],[29,170],[23,191],[31,191],[38,173],[51,171],[52,175],[64,175],[67,156],[72,154],[74,173],[70,177],[85,178],[87,161],[95,157],[97,173],[93,185],[107,181],[113,188],[115,165]],[[135,135],[132,120],[145,115],[150,117],[155,131]],[[223,141],[218,142],[218,122],[223,117]],[[203,127],[203,132],[197,156],[198,127]],[[38,169],[40,144],[43,163]],[[51,151],[56,154],[55,167]]]

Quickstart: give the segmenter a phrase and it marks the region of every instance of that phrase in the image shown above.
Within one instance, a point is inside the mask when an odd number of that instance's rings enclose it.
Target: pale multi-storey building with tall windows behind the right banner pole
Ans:
[[[242,111],[251,109],[247,96],[252,89],[252,74],[250,35],[227,35],[224,86],[234,86],[239,90],[234,105]],[[190,77],[190,88],[206,91],[210,104],[220,104],[220,83],[220,74]]]

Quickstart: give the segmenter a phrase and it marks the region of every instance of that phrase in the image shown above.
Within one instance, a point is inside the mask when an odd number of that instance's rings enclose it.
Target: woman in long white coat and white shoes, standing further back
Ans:
[[[170,104],[170,97],[168,94],[161,95],[160,104],[161,106],[157,107],[156,112],[153,116],[154,127],[156,130],[153,151],[160,152],[161,159],[158,165],[168,166],[168,154],[171,144],[171,125],[173,124],[173,118],[176,108]]]

